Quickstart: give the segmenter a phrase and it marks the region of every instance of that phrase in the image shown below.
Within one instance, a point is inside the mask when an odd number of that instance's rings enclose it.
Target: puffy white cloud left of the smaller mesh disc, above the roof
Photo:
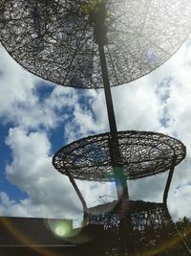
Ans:
[[[52,167],[51,146],[45,133],[27,134],[24,130],[13,128],[7,144],[13,155],[13,161],[6,169],[7,177],[28,193],[35,209],[44,209],[34,211],[36,215],[69,215],[70,209],[80,207],[68,179]],[[64,205],[69,202],[71,207],[67,210]],[[28,210],[28,214],[33,214],[32,208]]]

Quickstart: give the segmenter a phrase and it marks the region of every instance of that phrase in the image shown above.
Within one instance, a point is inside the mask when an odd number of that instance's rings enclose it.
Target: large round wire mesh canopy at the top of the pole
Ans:
[[[134,81],[173,56],[191,29],[187,0],[1,0],[0,40],[33,74],[77,88],[103,87],[91,8],[103,27],[111,86]],[[97,13],[97,19],[100,18]]]

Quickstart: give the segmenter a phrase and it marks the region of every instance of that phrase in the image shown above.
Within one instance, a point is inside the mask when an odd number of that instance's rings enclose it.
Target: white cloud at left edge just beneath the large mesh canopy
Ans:
[[[27,101],[35,103],[32,95],[35,78],[12,60],[1,46],[0,59],[0,115],[9,119],[11,114],[14,115],[16,105]]]

